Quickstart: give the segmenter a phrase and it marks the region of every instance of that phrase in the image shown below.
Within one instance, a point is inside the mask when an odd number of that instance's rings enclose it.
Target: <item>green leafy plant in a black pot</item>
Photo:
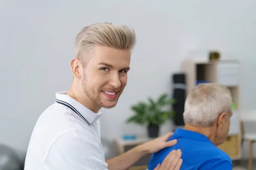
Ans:
[[[131,107],[135,114],[128,118],[126,122],[133,122],[139,125],[147,124],[148,136],[151,138],[158,137],[160,125],[172,118],[175,113],[175,111],[164,110],[164,108],[174,103],[175,99],[169,98],[167,94],[162,94],[155,101],[149,97],[148,102],[138,102]]]

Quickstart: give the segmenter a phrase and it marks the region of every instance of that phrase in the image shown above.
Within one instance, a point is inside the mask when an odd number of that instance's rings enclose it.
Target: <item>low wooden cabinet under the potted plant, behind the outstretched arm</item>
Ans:
[[[152,140],[150,138],[143,138],[143,139],[135,139],[135,140],[123,140],[121,138],[116,139],[116,147],[118,148],[119,154],[125,153],[126,151],[136,147],[139,144],[143,144]],[[148,162],[151,159],[151,155],[144,156],[139,161],[137,161],[132,167],[128,170],[145,170],[148,168]]]

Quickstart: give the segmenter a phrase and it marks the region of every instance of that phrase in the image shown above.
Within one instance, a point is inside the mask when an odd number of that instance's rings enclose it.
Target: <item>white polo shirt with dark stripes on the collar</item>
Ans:
[[[36,122],[24,170],[107,170],[100,116],[58,92],[56,102]]]

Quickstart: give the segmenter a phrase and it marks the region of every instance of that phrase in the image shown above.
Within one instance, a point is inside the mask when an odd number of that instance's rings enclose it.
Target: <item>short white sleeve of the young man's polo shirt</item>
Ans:
[[[99,139],[71,130],[59,137],[44,161],[47,170],[108,170]]]

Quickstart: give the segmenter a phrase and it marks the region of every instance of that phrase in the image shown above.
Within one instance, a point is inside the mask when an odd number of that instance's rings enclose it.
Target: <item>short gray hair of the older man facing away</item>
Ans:
[[[202,83],[186,98],[183,119],[185,124],[212,126],[220,113],[232,111],[230,90],[218,83]]]

